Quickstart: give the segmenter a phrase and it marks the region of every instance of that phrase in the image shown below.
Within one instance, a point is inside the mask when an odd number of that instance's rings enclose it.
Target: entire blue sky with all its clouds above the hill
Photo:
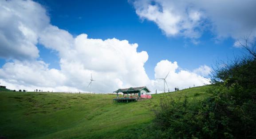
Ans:
[[[254,13],[255,0],[1,0],[0,85],[163,92],[169,73],[170,91],[202,86],[255,41]]]

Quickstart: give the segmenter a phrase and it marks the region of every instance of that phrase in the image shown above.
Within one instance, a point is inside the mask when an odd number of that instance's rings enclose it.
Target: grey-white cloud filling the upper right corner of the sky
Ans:
[[[137,15],[153,21],[167,36],[191,39],[210,30],[218,39],[256,37],[255,0],[135,0]]]

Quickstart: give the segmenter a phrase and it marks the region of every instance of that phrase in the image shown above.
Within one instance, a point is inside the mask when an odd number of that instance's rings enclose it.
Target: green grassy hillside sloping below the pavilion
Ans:
[[[136,137],[154,119],[151,109],[161,97],[189,101],[207,98],[212,86],[194,87],[131,103],[114,103],[114,95],[0,92],[0,137],[126,138]]]

